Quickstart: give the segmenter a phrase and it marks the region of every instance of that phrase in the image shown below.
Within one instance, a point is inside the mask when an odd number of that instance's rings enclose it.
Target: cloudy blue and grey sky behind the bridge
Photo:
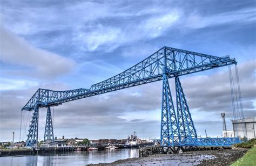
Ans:
[[[0,0],[0,141],[26,140],[38,88],[69,90],[121,73],[163,46],[238,62],[245,117],[256,116],[255,1]],[[234,67],[234,66],[233,66]],[[233,68],[232,67],[232,68]],[[180,77],[198,135],[222,134],[233,118],[228,67]],[[174,80],[169,79],[175,101]],[[60,138],[160,137],[161,82],[52,109]],[[175,104],[175,102],[174,102]],[[46,109],[39,110],[39,140]]]

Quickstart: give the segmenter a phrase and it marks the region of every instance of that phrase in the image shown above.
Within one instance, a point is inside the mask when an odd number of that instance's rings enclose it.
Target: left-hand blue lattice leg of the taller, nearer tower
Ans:
[[[161,146],[179,145],[179,129],[174,111],[170,85],[163,74],[163,96],[161,105]]]

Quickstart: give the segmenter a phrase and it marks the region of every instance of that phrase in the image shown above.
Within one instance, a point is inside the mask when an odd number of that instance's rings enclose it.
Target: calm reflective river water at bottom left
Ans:
[[[138,156],[138,149],[112,149],[63,154],[0,157],[0,165],[86,165],[90,163],[110,163],[116,160]]]

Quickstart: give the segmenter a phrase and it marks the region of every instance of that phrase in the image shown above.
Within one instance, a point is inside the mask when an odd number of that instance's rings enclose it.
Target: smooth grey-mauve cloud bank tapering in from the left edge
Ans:
[[[55,53],[31,46],[21,37],[0,27],[0,60],[18,64],[32,70],[27,73],[33,77],[52,78],[68,73],[75,62]]]

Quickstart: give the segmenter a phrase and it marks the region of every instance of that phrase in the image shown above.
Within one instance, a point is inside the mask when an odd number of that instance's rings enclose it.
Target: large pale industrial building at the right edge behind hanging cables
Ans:
[[[253,139],[255,137],[255,127],[256,127],[256,117],[253,118],[244,118],[231,120],[233,124],[233,130],[235,136],[240,136],[243,138],[244,136],[247,139]]]

